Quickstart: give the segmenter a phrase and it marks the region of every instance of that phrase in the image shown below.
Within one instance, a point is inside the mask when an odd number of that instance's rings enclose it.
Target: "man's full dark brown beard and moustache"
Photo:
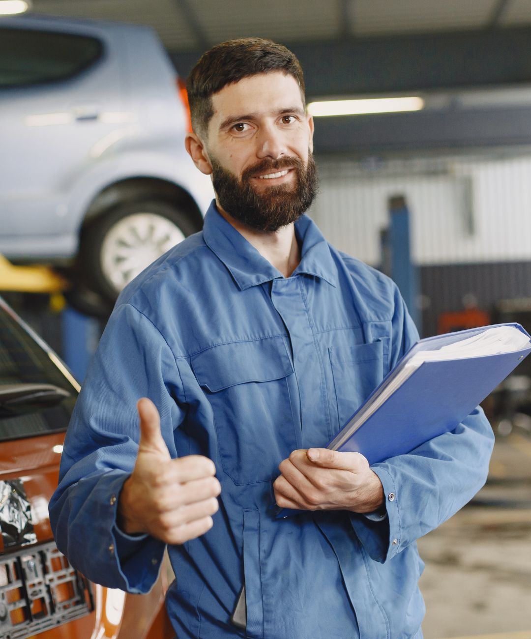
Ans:
[[[315,160],[308,154],[307,165],[300,158],[265,159],[246,169],[242,179],[224,169],[215,158],[211,160],[212,182],[221,208],[231,217],[255,231],[268,233],[291,224],[309,209],[317,194],[318,181]],[[252,178],[278,173],[291,168],[295,183],[255,190]]]

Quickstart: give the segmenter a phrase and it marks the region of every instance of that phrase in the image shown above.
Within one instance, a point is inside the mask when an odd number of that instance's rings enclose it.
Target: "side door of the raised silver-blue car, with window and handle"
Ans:
[[[0,252],[72,254],[68,189],[112,144],[122,109],[104,29],[0,20]]]

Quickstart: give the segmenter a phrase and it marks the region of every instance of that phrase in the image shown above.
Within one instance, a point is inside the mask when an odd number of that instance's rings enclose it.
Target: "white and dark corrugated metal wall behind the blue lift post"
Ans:
[[[323,157],[318,167],[312,217],[332,244],[373,266],[389,198],[406,197],[424,335],[474,301],[496,318],[498,300],[531,298],[531,150]]]

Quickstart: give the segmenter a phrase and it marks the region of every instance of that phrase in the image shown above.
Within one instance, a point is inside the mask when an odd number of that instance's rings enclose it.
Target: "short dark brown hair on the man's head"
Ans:
[[[212,95],[250,75],[281,71],[293,75],[304,104],[304,77],[295,54],[284,45],[263,38],[227,40],[204,53],[187,80],[192,126],[206,133],[213,116]]]

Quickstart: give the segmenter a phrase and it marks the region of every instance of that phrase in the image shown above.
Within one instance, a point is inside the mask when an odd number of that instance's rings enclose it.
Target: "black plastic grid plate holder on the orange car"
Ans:
[[[93,610],[91,584],[53,542],[0,557],[0,639],[24,639]]]

